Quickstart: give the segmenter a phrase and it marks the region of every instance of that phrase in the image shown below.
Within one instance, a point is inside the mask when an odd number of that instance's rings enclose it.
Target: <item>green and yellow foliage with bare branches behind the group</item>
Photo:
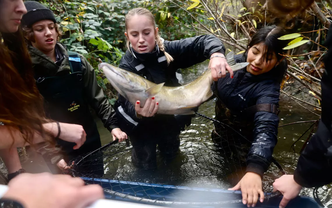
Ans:
[[[328,2],[314,3],[304,12],[276,15],[269,0],[41,0],[56,15],[64,35],[60,42],[86,56],[111,104],[116,93],[98,70],[100,62],[118,65],[125,51],[124,17],[128,10],[145,7],[155,16],[161,36],[179,40],[213,34],[230,51],[243,53],[252,34],[267,24],[284,27],[292,35],[285,52],[289,70],[282,93],[320,110],[323,46],[331,14]],[[292,38],[294,37],[294,38]],[[292,42],[291,42],[292,41]],[[304,107],[304,106],[303,106]],[[319,112],[314,112],[319,114]]]

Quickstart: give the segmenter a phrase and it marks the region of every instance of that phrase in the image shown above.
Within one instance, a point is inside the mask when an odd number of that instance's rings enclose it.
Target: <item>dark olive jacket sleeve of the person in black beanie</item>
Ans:
[[[97,116],[102,120],[104,127],[109,131],[119,128],[115,110],[108,102],[102,88],[98,85],[94,68],[81,56],[84,70],[84,92],[90,106],[95,110]]]

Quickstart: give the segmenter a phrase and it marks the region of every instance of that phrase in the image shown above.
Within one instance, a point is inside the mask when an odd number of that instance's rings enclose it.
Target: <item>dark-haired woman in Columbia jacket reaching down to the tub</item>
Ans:
[[[235,62],[250,64],[234,72],[233,79],[226,76],[212,85],[217,97],[215,119],[231,127],[214,122],[212,141],[234,162],[230,167],[246,167],[245,175],[229,190],[241,189],[248,207],[256,205],[258,195],[264,200],[262,178],[277,144],[280,83],[287,70],[280,55],[287,43],[278,40],[283,34],[274,25],[258,30],[244,55],[234,56]]]

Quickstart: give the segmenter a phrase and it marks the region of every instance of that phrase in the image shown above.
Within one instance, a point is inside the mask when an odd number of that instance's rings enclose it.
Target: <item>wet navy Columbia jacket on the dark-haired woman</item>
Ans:
[[[234,59],[236,63],[245,62],[241,55],[235,55]],[[233,79],[229,76],[219,79],[218,97],[233,113],[263,103],[279,107],[280,82],[270,72],[255,76],[244,68],[234,72]],[[212,91],[215,90],[214,82]],[[258,111],[253,116],[253,122],[252,138],[248,138],[252,144],[246,158],[246,171],[262,176],[271,163],[273,149],[278,141],[279,116],[272,112]]]

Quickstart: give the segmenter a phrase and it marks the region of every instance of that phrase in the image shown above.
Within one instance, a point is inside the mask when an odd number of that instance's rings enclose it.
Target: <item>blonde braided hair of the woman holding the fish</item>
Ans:
[[[147,9],[145,9],[145,8],[140,8],[140,7],[139,7],[139,8],[135,8],[135,9],[129,10],[128,13],[125,15],[125,28],[126,28],[126,30],[127,30],[127,28],[128,28],[128,21],[129,21],[130,18],[131,18],[132,16],[134,16],[135,14],[138,14],[138,15],[145,15],[145,16],[147,16],[147,17],[150,19],[152,25],[153,25],[154,27],[156,27],[156,23],[155,23],[155,21],[154,21],[153,14],[152,14],[149,10],[147,10]],[[166,57],[166,61],[167,61],[167,63],[168,63],[168,64],[171,63],[171,62],[173,61],[173,57],[172,57],[171,55],[169,55],[169,54],[165,51],[164,43],[161,41],[161,39],[160,39],[160,35],[159,35],[158,33],[155,35],[155,38],[156,38],[156,42],[157,42],[157,44],[158,44],[158,47],[159,47],[160,51],[164,52],[164,54],[165,54],[165,57]],[[129,39],[127,38],[126,40],[127,40],[127,48],[128,48],[129,51],[131,51],[131,50],[129,49]]]

